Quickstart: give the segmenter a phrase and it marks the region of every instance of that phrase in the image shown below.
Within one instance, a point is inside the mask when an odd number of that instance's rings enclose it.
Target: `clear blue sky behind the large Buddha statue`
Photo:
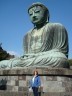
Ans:
[[[61,23],[68,31],[69,58],[72,58],[72,0],[0,0],[0,43],[10,54],[22,56],[23,37],[33,24],[28,15],[32,3],[43,3],[50,22]]]

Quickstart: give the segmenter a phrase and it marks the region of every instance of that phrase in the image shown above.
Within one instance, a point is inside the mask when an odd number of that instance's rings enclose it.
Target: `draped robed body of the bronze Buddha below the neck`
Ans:
[[[47,23],[39,30],[34,28],[24,36],[23,42],[24,56],[1,61],[0,68],[69,67],[68,35],[63,25]]]

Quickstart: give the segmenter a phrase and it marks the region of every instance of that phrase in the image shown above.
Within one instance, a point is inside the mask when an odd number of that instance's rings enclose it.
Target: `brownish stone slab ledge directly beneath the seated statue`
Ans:
[[[67,75],[72,76],[72,69],[66,68],[47,68],[47,67],[24,67],[13,69],[0,69],[0,76],[9,75],[32,75],[34,70],[38,70],[40,75]]]

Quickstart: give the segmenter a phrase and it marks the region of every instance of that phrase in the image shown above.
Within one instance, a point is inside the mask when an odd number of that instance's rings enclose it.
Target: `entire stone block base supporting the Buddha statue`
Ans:
[[[39,96],[72,96],[72,69],[47,67],[0,70],[0,96],[33,96],[28,86],[34,70],[41,77]]]

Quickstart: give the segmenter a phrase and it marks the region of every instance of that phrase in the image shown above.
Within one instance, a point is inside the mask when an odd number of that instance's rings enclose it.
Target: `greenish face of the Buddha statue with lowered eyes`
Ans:
[[[29,16],[33,24],[41,24],[44,21],[45,11],[41,6],[34,6],[29,9]]]

